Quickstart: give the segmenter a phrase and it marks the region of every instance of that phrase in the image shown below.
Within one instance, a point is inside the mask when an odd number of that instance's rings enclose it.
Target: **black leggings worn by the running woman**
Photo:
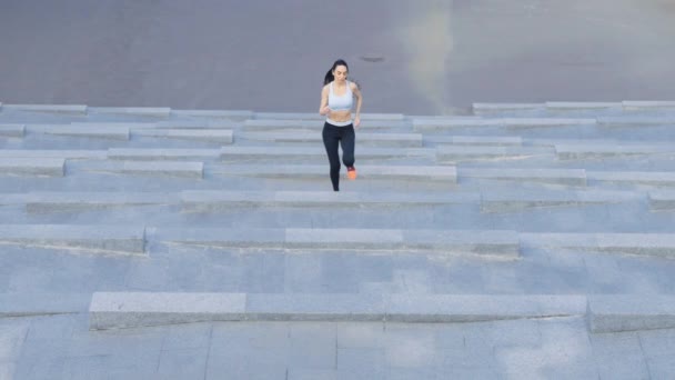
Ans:
[[[340,153],[338,151],[338,144],[342,146],[342,162],[345,167],[354,166],[354,142],[355,133],[354,126],[349,124],[345,127],[335,127],[325,122],[323,124],[323,144],[325,146],[325,152],[329,154],[329,162],[331,163],[331,182],[333,182],[333,190],[340,190]]]

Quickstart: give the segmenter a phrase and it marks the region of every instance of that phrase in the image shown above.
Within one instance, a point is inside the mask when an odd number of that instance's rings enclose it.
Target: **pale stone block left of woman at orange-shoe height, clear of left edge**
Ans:
[[[201,179],[204,176],[204,163],[185,161],[88,161],[79,164],[77,169],[73,169],[73,172]]]

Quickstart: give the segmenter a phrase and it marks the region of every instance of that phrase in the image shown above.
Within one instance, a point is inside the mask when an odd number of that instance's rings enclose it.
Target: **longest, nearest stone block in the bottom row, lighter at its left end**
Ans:
[[[583,296],[97,292],[90,329],[213,321],[465,323],[584,316]]]

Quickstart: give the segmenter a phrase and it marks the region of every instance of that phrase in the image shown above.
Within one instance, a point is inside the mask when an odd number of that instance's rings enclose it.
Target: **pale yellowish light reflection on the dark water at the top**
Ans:
[[[452,1],[423,0],[411,4],[399,36],[410,59],[413,88],[436,113],[449,110],[446,62],[453,47]]]

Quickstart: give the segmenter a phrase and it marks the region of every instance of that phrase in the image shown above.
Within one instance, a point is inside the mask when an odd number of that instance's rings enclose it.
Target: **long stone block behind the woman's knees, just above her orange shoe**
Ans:
[[[222,147],[221,159],[224,161],[249,161],[249,160],[273,160],[283,161],[289,159],[302,159],[308,161],[326,160],[325,149],[318,147]],[[435,161],[436,150],[430,148],[359,148],[357,160],[389,160],[423,158]]]

